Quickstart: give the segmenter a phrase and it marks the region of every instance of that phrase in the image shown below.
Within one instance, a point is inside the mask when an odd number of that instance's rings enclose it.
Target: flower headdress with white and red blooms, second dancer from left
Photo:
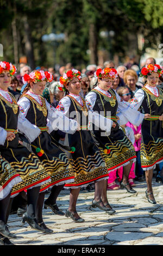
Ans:
[[[48,71],[44,71],[44,70],[40,70],[40,71],[33,71],[30,72],[30,74],[25,74],[22,78],[22,81],[24,84],[26,83],[37,83],[37,82],[41,82],[41,81],[46,81],[46,82],[52,82],[53,81],[53,75],[48,72]]]

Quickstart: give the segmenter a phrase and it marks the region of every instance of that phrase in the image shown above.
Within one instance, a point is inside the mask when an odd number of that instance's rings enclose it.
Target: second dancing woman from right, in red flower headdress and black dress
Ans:
[[[115,69],[98,69],[95,72],[95,76],[98,78],[98,86],[86,95],[86,101],[93,111],[103,113],[104,117],[113,120],[115,126],[111,127],[109,136],[102,136],[103,131],[97,130],[96,127],[94,127],[93,137],[101,149],[102,156],[109,171],[123,166],[121,188],[126,188],[129,193],[136,193],[128,182],[131,166],[136,159],[135,149],[128,137],[124,134],[120,125],[118,125],[116,115],[118,115],[117,111],[120,112],[121,124],[125,124],[125,117],[128,117],[135,125],[141,123],[144,115],[139,111],[135,111],[134,108],[131,108],[130,103],[123,101],[115,90],[110,88],[112,81],[117,77],[117,71]],[[105,207],[110,208],[111,206],[109,205],[106,191],[107,181],[105,181],[102,200]]]

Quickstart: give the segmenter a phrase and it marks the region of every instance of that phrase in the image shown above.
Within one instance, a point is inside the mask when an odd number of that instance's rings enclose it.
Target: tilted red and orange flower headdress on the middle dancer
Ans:
[[[73,79],[78,78],[79,80],[82,78],[81,73],[77,69],[68,70],[66,73],[64,73],[63,76],[59,79],[59,90],[65,90],[64,87],[67,86],[67,84]]]

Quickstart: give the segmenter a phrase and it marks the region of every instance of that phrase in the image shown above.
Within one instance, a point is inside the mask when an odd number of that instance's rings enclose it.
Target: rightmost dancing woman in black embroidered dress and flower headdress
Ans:
[[[147,82],[139,89],[131,100],[135,109],[142,107],[149,117],[144,119],[141,126],[141,167],[145,170],[147,190],[146,197],[149,203],[156,204],[152,190],[153,169],[156,163],[163,161],[163,90],[156,87],[163,68],[160,65],[149,64],[142,68],[140,76]]]

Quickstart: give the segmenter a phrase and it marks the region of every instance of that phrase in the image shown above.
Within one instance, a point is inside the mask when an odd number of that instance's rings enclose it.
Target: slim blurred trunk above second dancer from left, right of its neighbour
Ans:
[[[33,70],[35,69],[35,59],[34,59],[32,36],[31,36],[31,31],[30,31],[30,26],[28,23],[27,16],[24,16],[23,22],[24,22],[24,32],[25,32],[24,39],[25,39],[27,61],[28,61],[28,65]]]

